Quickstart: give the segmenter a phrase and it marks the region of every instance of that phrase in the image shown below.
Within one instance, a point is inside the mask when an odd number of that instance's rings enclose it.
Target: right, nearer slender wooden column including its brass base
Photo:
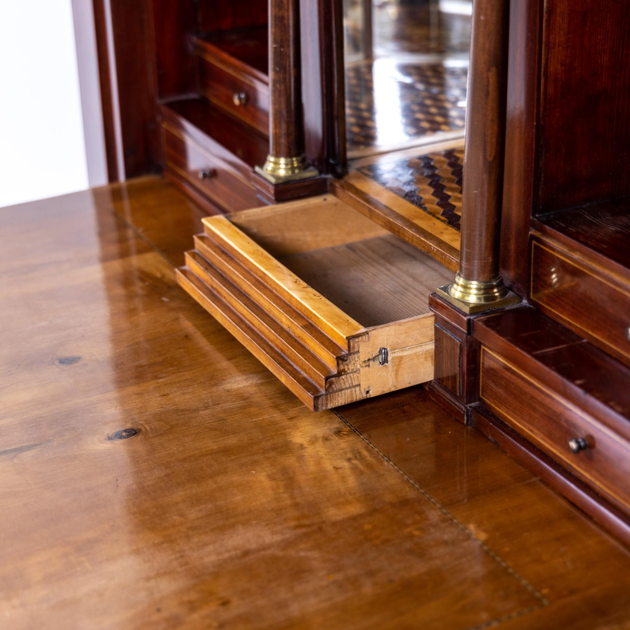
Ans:
[[[509,4],[473,3],[459,271],[438,289],[466,312],[518,302],[499,273]]]

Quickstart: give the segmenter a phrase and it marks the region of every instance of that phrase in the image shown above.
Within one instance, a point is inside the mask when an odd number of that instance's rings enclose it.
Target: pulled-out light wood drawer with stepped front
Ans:
[[[432,380],[433,258],[333,195],[203,222],[178,282],[312,410]]]

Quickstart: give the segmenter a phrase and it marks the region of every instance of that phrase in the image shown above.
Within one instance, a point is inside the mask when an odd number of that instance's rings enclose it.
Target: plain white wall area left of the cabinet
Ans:
[[[71,0],[2,0],[0,207],[85,188]]]

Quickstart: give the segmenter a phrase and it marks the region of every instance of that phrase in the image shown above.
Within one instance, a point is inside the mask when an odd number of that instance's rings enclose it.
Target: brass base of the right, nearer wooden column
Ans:
[[[438,287],[437,294],[467,314],[501,309],[520,302],[520,297],[503,284],[501,276],[488,282],[478,282],[466,280],[458,272],[453,284]]]

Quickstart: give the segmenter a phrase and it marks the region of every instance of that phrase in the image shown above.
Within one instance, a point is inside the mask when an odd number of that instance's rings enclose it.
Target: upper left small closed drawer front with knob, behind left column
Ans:
[[[242,69],[232,68],[223,59],[213,59],[205,50],[197,50],[197,65],[203,96],[263,134],[269,133],[269,94],[265,83]]]

